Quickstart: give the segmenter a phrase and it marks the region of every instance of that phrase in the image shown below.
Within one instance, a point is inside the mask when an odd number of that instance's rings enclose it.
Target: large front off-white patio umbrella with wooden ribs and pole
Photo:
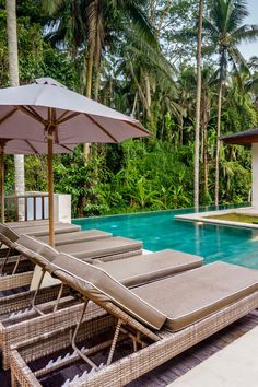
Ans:
[[[48,142],[49,242],[54,245],[52,145],[118,143],[148,137],[139,121],[62,86],[51,78],[0,90],[0,138]]]

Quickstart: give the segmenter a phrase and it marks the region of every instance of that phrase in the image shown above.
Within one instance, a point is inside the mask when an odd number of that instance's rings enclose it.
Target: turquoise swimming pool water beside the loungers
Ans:
[[[203,209],[207,210],[207,209]],[[176,221],[188,210],[99,216],[74,220],[83,230],[98,228],[143,241],[144,248],[172,248],[204,257],[206,263],[223,260],[258,269],[258,230]]]

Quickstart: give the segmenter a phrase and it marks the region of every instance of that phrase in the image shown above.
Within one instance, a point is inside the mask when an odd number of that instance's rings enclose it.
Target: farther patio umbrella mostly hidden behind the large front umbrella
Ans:
[[[69,153],[74,145],[54,145],[54,153]],[[4,223],[4,154],[45,154],[48,151],[46,142],[21,139],[0,139],[0,174],[1,174],[1,222]]]

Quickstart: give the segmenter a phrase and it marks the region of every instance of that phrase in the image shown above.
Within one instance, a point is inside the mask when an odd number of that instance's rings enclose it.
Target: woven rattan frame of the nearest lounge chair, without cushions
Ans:
[[[162,329],[159,333],[152,332],[156,337],[153,343],[119,361],[101,367],[97,372],[83,374],[83,376],[77,378],[74,383],[71,380],[69,387],[113,387],[126,385],[218,332],[257,307],[258,292],[255,292],[178,332],[171,332],[166,329]],[[136,331],[139,330],[139,322],[120,310],[117,306],[114,307],[113,304],[106,303],[105,309],[115,317],[116,321],[119,316],[122,324],[129,325]],[[93,335],[98,335],[97,321],[97,318],[90,321],[91,333]],[[116,325],[112,326],[113,330],[115,326]],[[140,329],[142,329],[142,327],[140,327]],[[143,332],[141,331],[141,333]],[[28,364],[32,360],[54,353],[57,347],[58,349],[67,348],[71,339],[69,335],[64,335],[60,339],[60,335],[63,333],[52,333],[51,338],[46,340],[42,339],[43,341],[38,341],[38,343],[36,339],[34,339],[33,343],[19,344],[13,349],[11,354],[11,371],[14,386],[40,386],[38,377],[46,374],[47,370],[39,370],[34,373]],[[149,329],[144,335],[149,336]],[[38,337],[38,340],[40,340],[40,337]]]

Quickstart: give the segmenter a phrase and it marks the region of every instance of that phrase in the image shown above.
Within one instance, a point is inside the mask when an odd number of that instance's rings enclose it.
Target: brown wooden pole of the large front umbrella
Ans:
[[[54,232],[54,174],[52,174],[52,130],[48,129],[48,208],[49,208],[49,245],[55,246]]]

